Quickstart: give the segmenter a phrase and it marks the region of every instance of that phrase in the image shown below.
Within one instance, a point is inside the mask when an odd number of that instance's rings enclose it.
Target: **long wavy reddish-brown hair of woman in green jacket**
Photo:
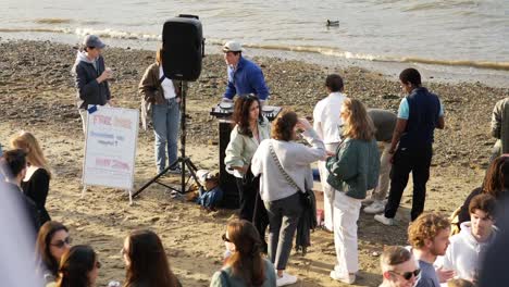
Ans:
[[[343,107],[348,114],[343,127],[343,135],[355,139],[372,140],[375,127],[371,117],[368,116],[364,104],[359,100],[346,98]]]

